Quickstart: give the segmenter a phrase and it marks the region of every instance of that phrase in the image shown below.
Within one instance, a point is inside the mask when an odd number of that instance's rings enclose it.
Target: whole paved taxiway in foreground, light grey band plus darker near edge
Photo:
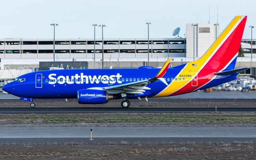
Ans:
[[[90,129],[93,139],[90,141]],[[256,142],[255,127],[0,127],[0,144]]]

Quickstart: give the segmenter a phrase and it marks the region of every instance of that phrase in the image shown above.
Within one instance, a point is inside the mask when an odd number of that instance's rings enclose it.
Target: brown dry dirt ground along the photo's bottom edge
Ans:
[[[255,160],[256,144],[0,146],[3,160]]]

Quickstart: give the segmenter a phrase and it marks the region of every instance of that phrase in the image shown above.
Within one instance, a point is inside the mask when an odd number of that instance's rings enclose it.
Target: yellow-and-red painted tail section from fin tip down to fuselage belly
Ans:
[[[172,81],[155,97],[174,96],[198,90],[216,77],[213,73],[234,69],[246,19],[247,16],[236,16],[200,59],[184,66],[189,70],[181,70],[179,75],[191,74],[191,80]],[[197,77],[200,79],[197,80]],[[193,85],[192,80],[196,80],[197,84]]]

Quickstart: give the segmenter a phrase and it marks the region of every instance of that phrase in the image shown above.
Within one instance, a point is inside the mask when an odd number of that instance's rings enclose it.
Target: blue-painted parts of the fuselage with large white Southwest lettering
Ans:
[[[185,64],[184,64],[185,65]],[[169,68],[163,78],[170,84],[180,73],[184,65]],[[136,68],[136,69],[79,69],[79,70],[47,70],[24,74],[4,86],[7,92],[28,98],[77,98],[78,90],[87,88],[102,88],[126,84],[153,78],[160,68]],[[81,77],[83,76],[83,77]],[[208,87],[216,86],[230,80],[236,75],[223,76],[214,79],[214,83]],[[180,78],[178,78],[179,80]],[[182,80],[182,79],[181,79]],[[200,78],[198,78],[200,81]],[[146,90],[141,97],[153,97],[166,88],[166,84],[156,81],[147,85],[151,88]],[[204,88],[198,88],[204,89]],[[192,92],[192,91],[188,91]],[[184,94],[184,93],[182,93]],[[128,95],[127,98],[136,98],[136,95]]]

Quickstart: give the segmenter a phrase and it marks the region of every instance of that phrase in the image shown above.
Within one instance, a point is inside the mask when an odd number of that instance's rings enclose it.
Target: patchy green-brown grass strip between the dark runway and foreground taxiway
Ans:
[[[254,113],[0,114],[0,125],[222,124],[256,126]],[[240,125],[239,125],[240,124]]]

